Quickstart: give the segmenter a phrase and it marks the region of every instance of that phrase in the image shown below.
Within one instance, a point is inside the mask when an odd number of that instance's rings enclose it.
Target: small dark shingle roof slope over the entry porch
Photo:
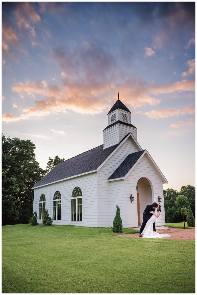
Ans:
[[[120,164],[120,166],[112,173],[108,179],[115,179],[124,177],[137,160],[141,157],[145,150],[140,150],[139,152],[129,154],[127,158]]]

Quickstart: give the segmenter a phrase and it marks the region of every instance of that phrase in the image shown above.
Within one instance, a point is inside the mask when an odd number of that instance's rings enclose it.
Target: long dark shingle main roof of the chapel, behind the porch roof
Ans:
[[[125,135],[120,143],[127,137],[127,135]],[[103,145],[100,145],[92,150],[88,150],[87,152],[57,164],[57,166],[38,181],[32,189],[70,176],[96,170],[117,148],[117,146],[120,145],[120,143],[105,149],[103,149]]]

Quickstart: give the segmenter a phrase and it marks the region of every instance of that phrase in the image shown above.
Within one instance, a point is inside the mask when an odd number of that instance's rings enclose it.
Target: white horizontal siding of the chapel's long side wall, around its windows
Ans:
[[[71,195],[75,186],[79,186],[83,194],[83,221],[71,221]],[[39,213],[39,199],[41,194],[46,197],[46,209],[52,218],[53,196],[60,191],[62,196],[61,220],[54,220],[53,224],[73,224],[97,227],[97,175],[96,173],[68,179],[48,186],[34,189],[34,210]],[[41,221],[39,221],[41,223]]]

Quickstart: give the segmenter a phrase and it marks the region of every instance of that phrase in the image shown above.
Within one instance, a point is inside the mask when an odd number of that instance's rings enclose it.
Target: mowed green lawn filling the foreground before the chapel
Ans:
[[[195,293],[194,251],[111,228],[3,226],[2,293]]]

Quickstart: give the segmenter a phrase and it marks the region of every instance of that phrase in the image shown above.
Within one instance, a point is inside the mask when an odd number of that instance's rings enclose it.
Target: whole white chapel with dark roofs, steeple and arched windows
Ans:
[[[107,116],[102,145],[59,163],[32,187],[39,223],[48,209],[53,224],[111,227],[118,205],[123,227],[138,227],[145,207],[159,200],[156,226],[165,225],[167,180],[138,143],[131,112],[119,94]]]

